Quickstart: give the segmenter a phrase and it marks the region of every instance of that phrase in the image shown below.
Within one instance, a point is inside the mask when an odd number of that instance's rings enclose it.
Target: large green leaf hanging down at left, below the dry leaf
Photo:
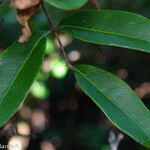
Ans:
[[[40,69],[46,45],[42,35],[15,42],[0,55],[0,126],[19,109]]]

